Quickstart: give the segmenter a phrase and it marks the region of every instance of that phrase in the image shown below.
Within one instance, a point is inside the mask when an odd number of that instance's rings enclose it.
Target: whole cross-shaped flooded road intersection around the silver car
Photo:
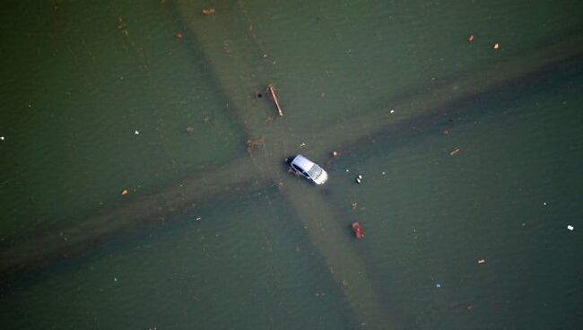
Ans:
[[[0,251],[3,260],[0,281],[94,249],[126,230],[134,230],[140,223],[168,219],[193,205],[212,201],[218,195],[236,194],[249,186],[261,188],[284,182],[280,185],[280,193],[292,205],[304,227],[309,228],[309,239],[326,260],[331,276],[344,292],[354,314],[368,328],[398,328],[398,320],[387,315],[388,308],[384,307],[382,297],[375,291],[375,283],[368,278],[366,265],[352,246],[345,244],[345,229],[338,226],[334,206],[312,187],[296,180],[284,180],[283,158],[298,152],[300,137],[290,136],[297,127],[288,124],[285,118],[266,122],[265,114],[273,113],[273,106],[254,100],[254,91],[271,83],[268,69],[249,65],[249,56],[261,56],[262,49],[242,40],[231,43],[229,51],[225,51],[224,41],[236,39],[232,22],[224,22],[218,15],[210,20],[193,19],[192,13],[198,13],[199,9],[192,4],[179,4],[170,11],[180,18],[182,25],[187,27],[187,35],[192,37],[184,42],[195,56],[203,56],[206,60],[215,88],[226,100],[225,110],[230,112],[248,138],[262,137],[263,144],[250,152],[242,152],[239,159],[213,172],[193,175],[151,195],[126,200],[109,213],[96,214],[75,221],[70,227],[15,243]],[[240,29],[245,31],[246,27]],[[207,30],[213,30],[213,33],[206,33]],[[344,149],[355,147],[366,142],[371,135],[384,134],[404,123],[435,116],[446,108],[472,102],[476,97],[500,91],[538,74],[560,70],[564,65],[581,59],[580,41],[579,36],[565,37],[455,81],[422,88],[413,96],[408,93],[382,100],[385,107],[359,117],[357,126],[344,122],[323,128],[313,137],[309,152],[323,159],[338,145]],[[249,54],[249,48],[257,48],[257,54]],[[233,68],[236,68],[234,72]],[[387,107],[401,109],[407,115],[391,116]],[[333,134],[338,130],[343,131],[342,141]],[[244,145],[241,142],[242,149]]]

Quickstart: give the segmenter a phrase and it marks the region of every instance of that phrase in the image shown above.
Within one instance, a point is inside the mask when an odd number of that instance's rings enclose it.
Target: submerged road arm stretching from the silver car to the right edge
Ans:
[[[324,127],[317,133],[318,139],[314,139],[315,143],[312,143],[311,147],[318,149],[322,154],[329,151],[330,145],[350,147],[362,140],[370,139],[371,135],[390,129],[391,126],[402,126],[403,123],[412,120],[424,120],[423,117],[431,117],[436,113],[444,115],[455,113],[460,105],[474,102],[481,95],[496,93],[535,79],[541,74],[561,70],[583,58],[583,38],[575,38],[577,41],[573,41],[573,38],[533,49],[526,54],[493,65],[485,71],[440,84],[422,93],[387,100],[385,107],[359,117],[358,125],[345,123]],[[395,113],[391,114],[390,109],[395,109]],[[335,134],[338,130],[343,131],[342,141],[339,141]]]

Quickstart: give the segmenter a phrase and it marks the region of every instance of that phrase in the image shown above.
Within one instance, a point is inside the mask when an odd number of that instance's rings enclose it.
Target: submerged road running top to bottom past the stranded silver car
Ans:
[[[178,9],[179,13],[192,13],[193,11],[194,8],[180,7]],[[189,24],[189,22],[192,23]],[[205,58],[213,67],[214,75],[218,83],[222,85],[223,93],[227,94],[230,100],[236,102],[237,109],[242,110],[239,117],[241,122],[245,123],[247,131],[257,136],[284,138],[281,136],[283,133],[274,128],[276,126],[266,126],[265,122],[257,120],[261,116],[248,106],[248,93],[241,91],[241,88],[245,89],[253,84],[252,77],[255,74],[249,70],[250,67],[245,59],[239,56],[239,54],[243,54],[239,48],[231,45],[232,53],[222,49],[221,40],[230,39],[231,31],[226,29],[218,19],[207,20],[203,23],[201,20],[187,21],[185,18],[183,23],[192,26],[191,32],[196,34],[196,43],[203,53],[209,54]],[[213,30],[213,38],[204,33],[204,30],[207,29]],[[231,65],[222,65],[222,63],[227,62]],[[233,67],[238,69],[236,73],[232,72]],[[239,77],[238,83],[236,83],[236,79],[233,79],[233,75]],[[265,139],[264,145],[269,149],[276,147],[269,139]],[[279,153],[276,152],[276,154]],[[253,159],[258,168],[263,168],[264,173],[271,173],[271,178],[277,181],[276,177],[279,177],[277,173],[281,171],[283,158],[282,154],[279,155],[280,157],[274,158],[273,154],[268,155],[265,152],[264,157]],[[300,215],[304,227],[310,228],[309,238],[318,253],[326,260],[332,277],[344,292],[352,311],[368,328],[396,328],[387,316],[387,308],[384,307],[365,274],[365,267],[362,265],[361,259],[355,254],[352,247],[346,244],[346,233],[342,226],[338,226],[329,205],[324,202],[321,196],[315,195],[317,192],[313,187],[302,185],[303,183],[292,182],[288,187],[282,187],[281,191],[292,204],[295,212]],[[306,188],[310,190],[305,191]],[[308,193],[309,198],[305,198]]]

